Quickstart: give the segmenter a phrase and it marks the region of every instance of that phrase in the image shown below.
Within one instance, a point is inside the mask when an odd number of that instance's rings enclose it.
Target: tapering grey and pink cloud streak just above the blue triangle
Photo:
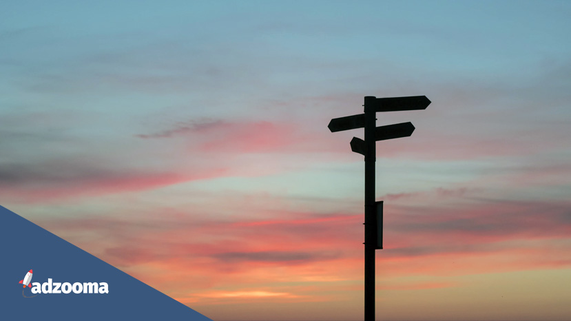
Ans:
[[[195,173],[109,168],[94,161],[46,161],[0,164],[2,199],[10,203],[38,203],[145,191],[190,180],[219,177],[225,169],[205,169]]]

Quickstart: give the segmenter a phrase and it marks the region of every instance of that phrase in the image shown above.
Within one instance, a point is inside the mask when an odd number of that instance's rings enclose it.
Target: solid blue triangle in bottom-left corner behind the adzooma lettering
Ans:
[[[1,206],[0,249],[0,320],[210,320]]]

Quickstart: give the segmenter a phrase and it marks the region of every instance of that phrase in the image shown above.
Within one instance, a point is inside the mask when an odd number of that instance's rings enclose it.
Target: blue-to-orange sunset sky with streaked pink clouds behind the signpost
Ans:
[[[213,320],[571,320],[570,1],[5,1],[0,205]]]

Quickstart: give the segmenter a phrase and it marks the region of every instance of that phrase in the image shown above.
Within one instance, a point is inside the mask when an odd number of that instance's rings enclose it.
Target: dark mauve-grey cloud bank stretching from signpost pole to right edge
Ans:
[[[464,242],[564,237],[571,231],[567,206],[565,201],[480,200],[469,208],[416,208],[414,214],[389,218],[388,224],[395,233],[426,233],[430,240],[460,235]]]

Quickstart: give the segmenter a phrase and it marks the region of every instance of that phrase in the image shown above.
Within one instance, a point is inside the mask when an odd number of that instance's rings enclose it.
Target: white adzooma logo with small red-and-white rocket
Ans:
[[[109,284],[107,282],[75,282],[71,284],[70,282],[52,282],[52,279],[48,278],[48,282],[34,282],[30,286],[30,281],[32,280],[32,270],[26,273],[25,278],[20,281],[23,287],[26,286],[32,288],[32,293],[109,293]]]

